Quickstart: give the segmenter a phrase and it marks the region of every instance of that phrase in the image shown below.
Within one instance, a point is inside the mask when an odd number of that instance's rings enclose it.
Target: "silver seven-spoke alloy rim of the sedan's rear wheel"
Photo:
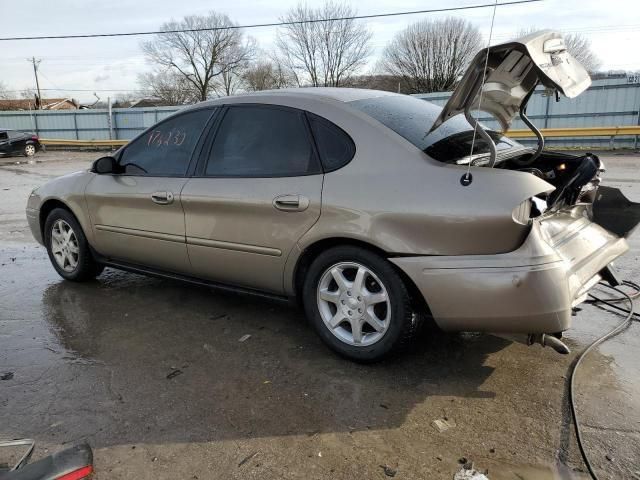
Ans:
[[[346,344],[372,345],[389,329],[387,288],[360,263],[341,262],[325,270],[318,283],[317,302],[325,326]]]

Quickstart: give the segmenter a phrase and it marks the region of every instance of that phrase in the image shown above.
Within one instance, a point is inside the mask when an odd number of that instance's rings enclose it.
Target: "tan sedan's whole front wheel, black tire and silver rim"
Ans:
[[[61,277],[80,282],[102,273],[104,267],[94,260],[80,224],[68,210],[49,213],[44,238],[51,264]]]

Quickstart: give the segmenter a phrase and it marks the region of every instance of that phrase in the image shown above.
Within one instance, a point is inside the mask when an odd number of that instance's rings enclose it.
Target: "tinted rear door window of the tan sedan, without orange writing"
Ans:
[[[230,107],[209,154],[210,176],[275,177],[319,173],[302,112]]]

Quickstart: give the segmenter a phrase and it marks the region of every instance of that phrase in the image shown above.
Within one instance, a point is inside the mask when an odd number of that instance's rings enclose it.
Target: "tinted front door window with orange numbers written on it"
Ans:
[[[149,129],[125,148],[119,161],[122,173],[185,175],[210,116],[211,110],[196,110]]]

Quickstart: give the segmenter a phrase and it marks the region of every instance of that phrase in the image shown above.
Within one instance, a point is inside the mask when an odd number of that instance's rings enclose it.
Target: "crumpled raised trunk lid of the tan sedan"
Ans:
[[[488,59],[485,48],[472,60],[430,131],[466,108],[490,113],[506,131],[538,83],[569,98],[591,85],[589,74],[567,51],[558,32],[542,30],[488,50]]]

